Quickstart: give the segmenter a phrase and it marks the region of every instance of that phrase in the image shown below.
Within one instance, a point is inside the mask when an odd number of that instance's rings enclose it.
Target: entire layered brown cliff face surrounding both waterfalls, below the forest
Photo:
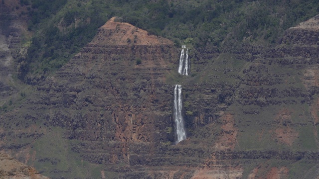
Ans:
[[[273,48],[190,49],[191,76],[171,41],[115,19],[0,116],[1,150],[54,178],[317,177],[318,16]]]

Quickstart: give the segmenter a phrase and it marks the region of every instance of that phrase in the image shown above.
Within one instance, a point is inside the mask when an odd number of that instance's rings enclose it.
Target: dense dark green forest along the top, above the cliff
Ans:
[[[284,30],[319,11],[317,0],[21,0],[35,32],[22,67],[28,75],[60,68],[112,16],[193,48],[229,48],[243,41],[275,44]],[[41,15],[40,15],[41,14]]]

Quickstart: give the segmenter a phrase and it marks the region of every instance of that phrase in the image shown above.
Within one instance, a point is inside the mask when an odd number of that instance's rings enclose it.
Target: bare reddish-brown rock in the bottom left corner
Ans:
[[[0,152],[0,178],[49,179],[40,175],[33,167],[26,166],[3,152]]]

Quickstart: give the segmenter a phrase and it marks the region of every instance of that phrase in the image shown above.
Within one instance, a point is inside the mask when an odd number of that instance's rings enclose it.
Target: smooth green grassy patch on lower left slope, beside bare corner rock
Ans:
[[[63,138],[63,132],[63,129],[53,127],[43,138],[36,140],[30,155],[36,154],[37,160],[29,160],[28,165],[41,168],[46,176],[58,177],[60,174],[56,171],[59,171],[66,178],[101,178],[100,166],[83,161],[72,152],[71,141]]]

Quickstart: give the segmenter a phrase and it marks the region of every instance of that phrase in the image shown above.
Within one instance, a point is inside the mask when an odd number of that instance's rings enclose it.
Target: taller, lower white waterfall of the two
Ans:
[[[174,118],[176,124],[176,144],[186,139],[186,133],[184,129],[184,119],[182,115],[182,98],[181,98],[181,86],[176,85],[174,89]]]

